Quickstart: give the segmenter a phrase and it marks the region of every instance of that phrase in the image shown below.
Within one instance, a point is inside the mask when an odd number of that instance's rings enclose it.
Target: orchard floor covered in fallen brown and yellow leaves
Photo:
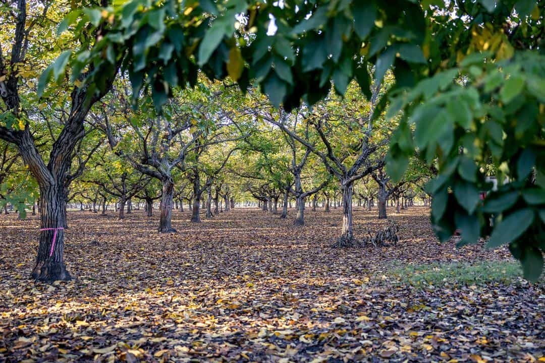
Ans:
[[[505,248],[439,244],[413,207],[389,210],[397,246],[332,249],[341,211],[305,212],[294,227],[257,209],[201,224],[174,211],[170,235],[156,232],[158,211],[70,212],[74,280],[54,285],[28,279],[38,218],[2,215],[0,362],[545,361],[542,284],[413,286],[390,273],[506,260]],[[356,208],[356,235],[386,223],[376,214]]]

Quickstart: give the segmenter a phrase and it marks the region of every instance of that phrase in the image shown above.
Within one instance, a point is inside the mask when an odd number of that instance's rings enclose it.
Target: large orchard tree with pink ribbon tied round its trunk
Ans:
[[[0,95],[3,101],[2,119],[0,120],[0,139],[14,144],[23,162],[28,166],[40,190],[40,242],[32,277],[40,281],[70,280],[65,268],[64,227],[66,226],[66,199],[70,183],[83,171],[80,167],[72,168],[74,150],[85,134],[84,120],[90,107],[110,90],[113,78],[117,74],[118,63],[92,64],[80,69],[72,75],[71,86],[64,84],[65,66],[68,64],[71,51],[60,53],[62,48],[91,48],[99,36],[99,28],[81,29],[79,35],[86,39],[82,45],[72,36],[60,36],[57,42],[41,42],[46,34],[54,33],[57,24],[69,10],[62,6],[51,6],[44,2],[29,6],[25,0],[6,3],[0,11],[2,23],[9,27],[11,39],[2,39],[0,48]],[[56,4],[57,5],[57,4]],[[78,6],[90,3],[74,4]],[[104,2],[103,6],[106,5]],[[89,16],[81,17],[88,21]],[[41,128],[37,94],[34,84],[36,71],[50,63],[48,57],[60,56],[50,64],[40,77],[39,86],[53,79],[60,84],[57,89],[43,92],[38,96],[57,97],[53,107],[66,109],[68,112],[62,124],[51,134],[50,152],[40,152],[33,129]],[[93,71],[104,71],[107,77],[102,79],[99,87],[84,82]],[[38,141],[41,143],[43,141]]]

